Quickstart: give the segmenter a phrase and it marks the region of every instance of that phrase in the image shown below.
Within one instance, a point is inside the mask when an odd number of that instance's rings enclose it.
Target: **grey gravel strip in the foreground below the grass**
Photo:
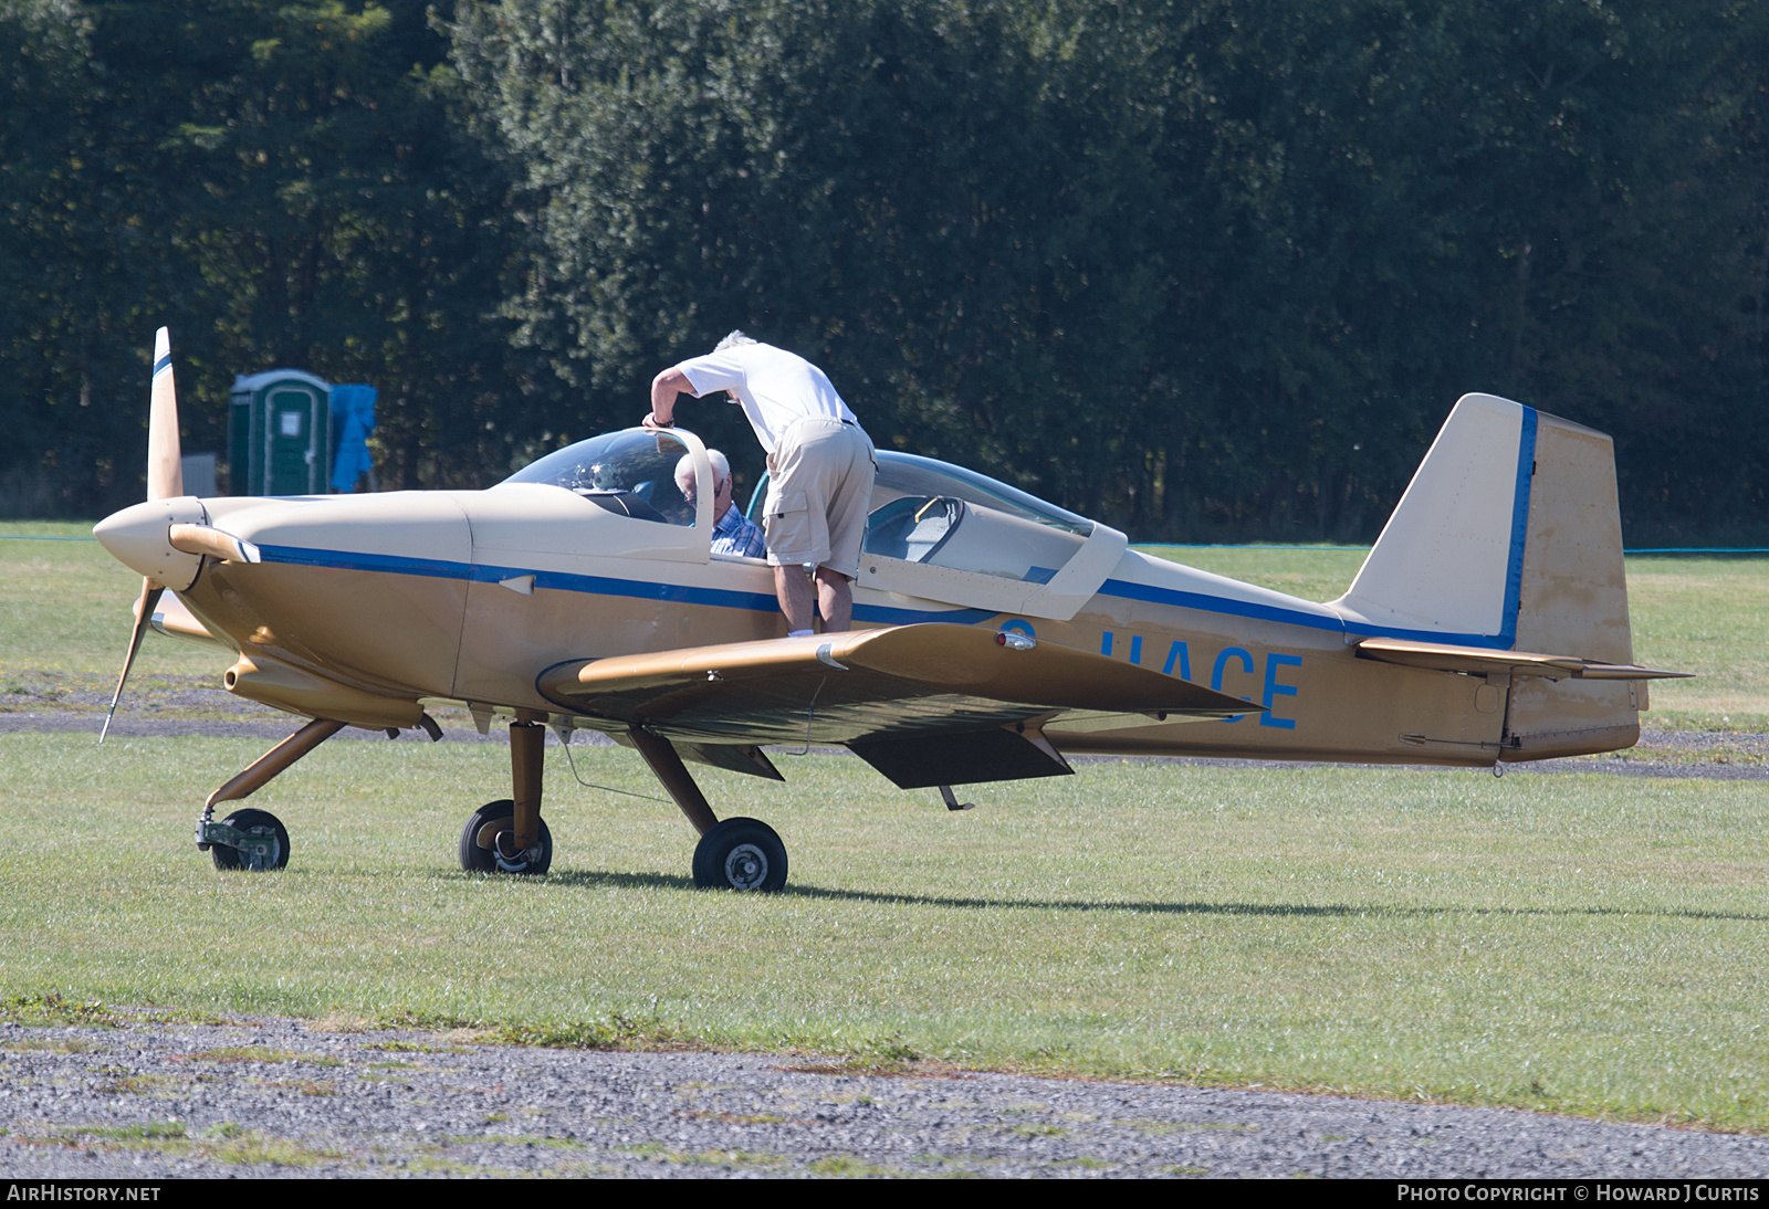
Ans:
[[[1769,1172],[1762,1137],[1527,1112],[126,1015],[0,1025],[5,1177]]]

